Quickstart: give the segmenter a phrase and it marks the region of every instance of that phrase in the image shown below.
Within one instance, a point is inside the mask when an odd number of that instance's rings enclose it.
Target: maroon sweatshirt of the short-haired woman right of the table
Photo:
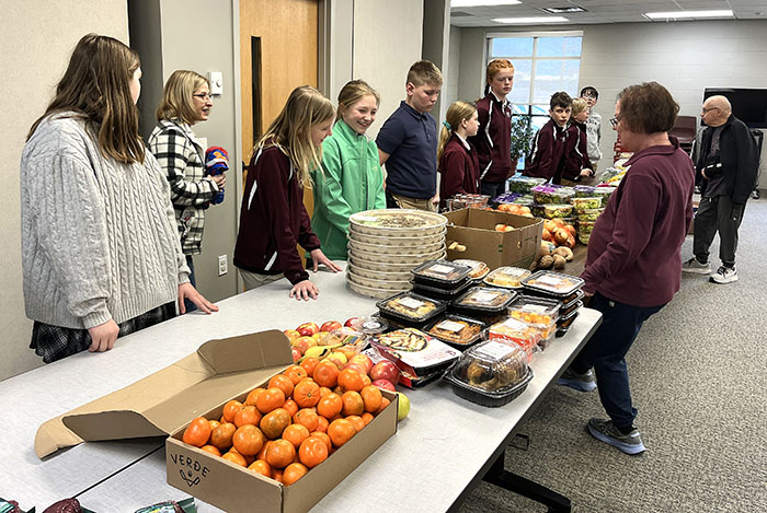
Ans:
[[[584,291],[632,306],[661,306],[679,290],[682,243],[692,220],[692,161],[675,138],[645,148],[594,225]]]

